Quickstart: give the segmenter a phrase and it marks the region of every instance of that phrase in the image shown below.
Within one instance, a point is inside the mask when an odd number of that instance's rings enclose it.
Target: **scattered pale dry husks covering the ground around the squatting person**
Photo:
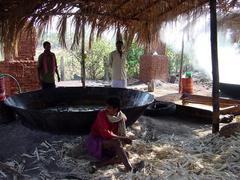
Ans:
[[[123,165],[107,166],[89,173],[94,161],[85,149],[86,136],[48,142],[43,140],[31,153],[23,153],[4,164],[25,179],[238,179],[240,177],[240,134],[230,138],[211,134],[209,126],[190,128],[162,124],[156,119],[141,117],[128,135],[135,138],[126,150],[130,162],[145,161],[137,173],[124,172]],[[187,132],[188,131],[188,132]],[[0,171],[0,178],[11,173]]]

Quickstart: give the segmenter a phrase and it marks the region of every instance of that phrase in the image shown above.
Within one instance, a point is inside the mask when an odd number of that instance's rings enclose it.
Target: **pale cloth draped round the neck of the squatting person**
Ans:
[[[119,111],[117,116],[107,115],[107,119],[110,123],[118,122],[118,136],[126,136],[125,121],[127,120],[127,117],[122,111]]]

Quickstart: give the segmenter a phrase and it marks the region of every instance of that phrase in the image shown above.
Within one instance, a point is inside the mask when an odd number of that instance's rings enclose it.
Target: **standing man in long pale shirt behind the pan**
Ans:
[[[126,56],[123,52],[123,41],[120,30],[117,32],[116,50],[110,53],[109,65],[112,68],[112,87],[126,88]]]

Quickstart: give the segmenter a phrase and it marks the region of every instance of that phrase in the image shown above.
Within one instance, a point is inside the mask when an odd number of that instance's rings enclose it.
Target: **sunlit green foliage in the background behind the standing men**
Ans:
[[[70,35],[68,35],[70,39]],[[81,47],[75,50],[62,49],[59,46],[56,33],[48,33],[45,37],[39,39],[36,59],[38,55],[43,51],[43,41],[50,41],[52,45],[52,51],[56,54],[58,67],[60,67],[60,59],[64,59],[64,76],[65,80],[79,79],[81,75]],[[70,40],[69,40],[70,42]],[[86,42],[87,47],[88,42]],[[70,46],[70,45],[69,45]],[[92,43],[91,50],[87,50],[85,53],[86,58],[86,78],[91,80],[103,80],[106,79],[106,73],[110,73],[110,69],[104,68],[104,63],[108,62],[109,54],[115,50],[115,44],[111,40],[98,39]],[[133,42],[127,52],[127,74],[128,78],[138,78],[139,75],[139,59],[144,53],[143,47]],[[168,57],[169,75],[177,75],[180,70],[181,52],[176,52],[172,47],[167,46],[166,55]],[[183,55],[183,67],[186,65],[191,66],[190,58]],[[183,71],[186,71],[183,68]]]

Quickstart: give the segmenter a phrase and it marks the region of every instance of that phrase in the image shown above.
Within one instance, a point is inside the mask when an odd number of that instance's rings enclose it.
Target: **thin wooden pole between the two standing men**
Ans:
[[[82,61],[81,61],[81,81],[85,87],[86,72],[85,72],[85,20],[82,21]]]

